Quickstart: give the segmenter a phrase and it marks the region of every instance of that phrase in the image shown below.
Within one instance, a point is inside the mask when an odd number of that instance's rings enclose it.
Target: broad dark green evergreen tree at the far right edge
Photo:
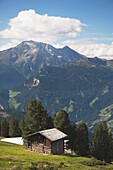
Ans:
[[[111,162],[112,134],[109,132],[106,122],[100,122],[94,129],[91,139],[91,153],[95,158]]]

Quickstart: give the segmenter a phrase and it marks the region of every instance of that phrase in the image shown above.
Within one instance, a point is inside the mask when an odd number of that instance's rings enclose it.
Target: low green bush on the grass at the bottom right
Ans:
[[[107,165],[104,161],[97,160],[95,158],[90,159],[89,161],[82,162],[83,165],[87,166],[96,166],[96,165]]]

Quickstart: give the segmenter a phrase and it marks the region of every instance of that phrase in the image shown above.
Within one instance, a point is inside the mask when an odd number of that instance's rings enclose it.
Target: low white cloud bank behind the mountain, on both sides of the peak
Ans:
[[[20,40],[13,39],[11,42],[1,45],[0,51],[14,47],[19,43],[21,43]],[[52,45],[56,48],[62,48],[65,45],[68,45],[70,48],[87,57],[97,56],[108,60],[113,59],[113,42],[111,44],[98,44],[89,40],[67,40],[59,44],[52,43]]]

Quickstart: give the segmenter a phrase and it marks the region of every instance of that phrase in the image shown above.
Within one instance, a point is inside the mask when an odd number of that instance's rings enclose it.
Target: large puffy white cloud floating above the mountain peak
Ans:
[[[34,10],[21,11],[10,19],[9,28],[0,31],[0,38],[32,39],[53,43],[74,38],[85,26],[80,20],[37,14]]]

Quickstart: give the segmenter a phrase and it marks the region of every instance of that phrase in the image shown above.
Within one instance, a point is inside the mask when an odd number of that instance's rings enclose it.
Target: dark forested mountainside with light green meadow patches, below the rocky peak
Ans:
[[[94,62],[94,60],[93,60]],[[113,118],[113,69],[79,60],[63,67],[43,68],[15,91],[19,110],[31,99],[39,99],[49,114],[65,109],[71,121],[94,125]],[[25,100],[23,100],[25,99]]]

